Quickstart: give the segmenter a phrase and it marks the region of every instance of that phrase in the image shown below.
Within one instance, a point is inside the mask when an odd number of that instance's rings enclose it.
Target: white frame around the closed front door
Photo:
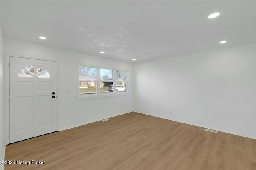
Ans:
[[[56,95],[58,96],[59,89],[59,62],[57,59],[48,59],[48,58],[36,58],[36,57],[28,57],[16,54],[5,54],[4,60],[4,75],[5,75],[5,87],[4,87],[4,96],[5,96],[5,145],[10,144],[10,70],[9,63],[10,57],[19,57],[25,59],[36,59],[36,60],[44,60],[44,61],[54,61],[56,62]],[[59,100],[56,98],[56,131],[59,131]]]

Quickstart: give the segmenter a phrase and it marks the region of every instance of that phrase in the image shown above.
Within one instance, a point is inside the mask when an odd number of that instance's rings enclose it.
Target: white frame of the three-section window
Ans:
[[[94,94],[80,94],[80,72],[79,72],[79,67],[90,67],[90,68],[96,68],[96,80],[94,80],[96,82],[96,93]],[[128,95],[129,94],[129,90],[127,88],[127,84],[128,84],[128,78],[129,78],[129,71],[128,70],[124,70],[124,69],[114,69],[114,68],[106,68],[106,67],[99,67],[99,66],[88,66],[85,64],[76,64],[76,74],[77,74],[77,78],[76,78],[76,99],[77,100],[83,100],[83,99],[92,99],[92,98],[102,98],[102,97],[111,97],[111,96],[120,96],[120,95]],[[113,70],[113,92],[105,92],[105,93],[101,93],[100,92],[100,82],[102,82],[102,80],[100,80],[100,69],[107,69],[107,70]],[[122,70],[122,71],[126,71],[126,81],[121,81],[121,82],[126,82],[126,91],[124,92],[116,92],[116,70]],[[83,80],[84,81],[84,80]],[[106,81],[107,82],[107,81]],[[111,81],[112,82],[112,81]],[[120,81],[118,81],[120,82]]]

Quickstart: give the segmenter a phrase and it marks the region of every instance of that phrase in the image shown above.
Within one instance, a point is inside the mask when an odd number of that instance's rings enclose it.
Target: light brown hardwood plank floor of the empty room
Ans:
[[[6,146],[5,170],[256,170],[256,140],[140,113]]]

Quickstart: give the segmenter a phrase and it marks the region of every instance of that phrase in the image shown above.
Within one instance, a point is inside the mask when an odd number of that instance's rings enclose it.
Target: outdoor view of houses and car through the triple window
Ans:
[[[126,92],[127,82],[128,71],[79,66],[79,95]]]

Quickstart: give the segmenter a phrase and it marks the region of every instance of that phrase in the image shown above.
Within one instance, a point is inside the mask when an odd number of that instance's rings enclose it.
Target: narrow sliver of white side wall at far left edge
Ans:
[[[5,145],[4,145],[4,67],[3,67],[3,37],[2,28],[0,25],[0,160],[4,160]],[[0,164],[0,170],[4,169],[4,165]]]

